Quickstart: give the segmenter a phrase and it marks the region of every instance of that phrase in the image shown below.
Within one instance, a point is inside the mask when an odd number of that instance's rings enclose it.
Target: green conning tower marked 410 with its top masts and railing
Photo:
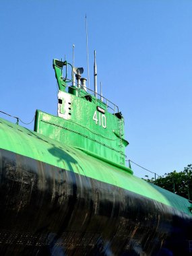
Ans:
[[[67,79],[67,67],[73,73],[74,68],[67,61],[53,60],[59,86],[58,117],[37,110],[34,131],[111,164],[125,166],[128,141],[124,138],[124,119],[119,108],[86,87],[86,79],[80,79],[82,68],[75,69],[77,83],[72,81],[73,74]]]

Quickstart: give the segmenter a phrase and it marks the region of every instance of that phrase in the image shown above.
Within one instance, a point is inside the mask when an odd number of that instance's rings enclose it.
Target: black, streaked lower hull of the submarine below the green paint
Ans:
[[[187,214],[25,156],[0,156],[0,255],[190,255]]]

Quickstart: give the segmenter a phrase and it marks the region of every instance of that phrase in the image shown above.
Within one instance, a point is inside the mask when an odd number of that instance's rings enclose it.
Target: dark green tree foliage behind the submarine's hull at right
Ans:
[[[152,178],[147,181],[192,200],[192,164],[188,164],[181,172],[174,170],[156,180]]]

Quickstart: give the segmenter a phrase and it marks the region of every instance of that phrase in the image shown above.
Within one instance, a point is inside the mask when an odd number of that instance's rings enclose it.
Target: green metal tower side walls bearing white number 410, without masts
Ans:
[[[104,113],[98,111],[98,106]],[[108,113],[100,101],[89,102],[59,91],[58,115],[61,118],[36,112],[35,131],[56,139],[63,144],[75,146],[98,154],[125,166],[124,119]]]

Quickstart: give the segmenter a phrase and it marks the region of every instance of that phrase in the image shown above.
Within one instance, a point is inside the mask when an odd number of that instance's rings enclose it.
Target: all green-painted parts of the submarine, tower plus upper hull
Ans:
[[[66,92],[62,68],[67,62],[54,60],[53,66],[59,86],[59,117],[37,110],[35,131],[0,119],[0,148],[127,189],[191,215],[187,199],[135,177],[131,168],[125,167],[128,142],[123,117],[110,113],[107,104],[82,88],[71,86]]]

